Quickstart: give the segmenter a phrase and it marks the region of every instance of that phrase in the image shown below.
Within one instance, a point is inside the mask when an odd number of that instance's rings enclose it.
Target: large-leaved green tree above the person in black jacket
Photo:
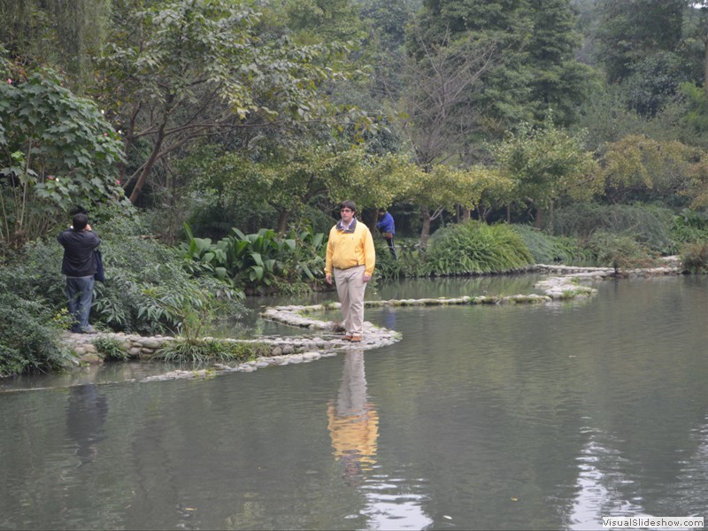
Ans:
[[[0,241],[18,249],[67,212],[124,204],[118,135],[51,73],[0,83]]]

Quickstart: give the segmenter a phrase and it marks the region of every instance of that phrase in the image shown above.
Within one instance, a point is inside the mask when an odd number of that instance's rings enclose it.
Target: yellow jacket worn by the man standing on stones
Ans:
[[[364,223],[357,219],[354,232],[342,230],[340,223],[332,227],[327,241],[326,274],[332,274],[333,267],[349,269],[354,266],[366,266],[365,273],[370,275],[373,274],[375,265],[376,251],[373,249],[373,237]]]

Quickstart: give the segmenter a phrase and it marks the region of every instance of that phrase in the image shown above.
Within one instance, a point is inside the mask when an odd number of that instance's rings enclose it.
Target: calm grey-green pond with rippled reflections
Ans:
[[[402,281],[368,296],[513,295],[534,281]],[[403,339],[211,380],[121,381],[157,370],[123,364],[3,382],[0,528],[708,516],[708,277],[597,288],[548,305],[367,310]]]

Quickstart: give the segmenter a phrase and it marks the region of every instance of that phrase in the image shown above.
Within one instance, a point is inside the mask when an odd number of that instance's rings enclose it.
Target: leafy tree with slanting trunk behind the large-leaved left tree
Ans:
[[[125,134],[135,203],[158,162],[206,137],[249,145],[248,130],[328,115],[319,86],[345,48],[258,37],[258,12],[216,0],[172,0],[119,12],[101,97]]]

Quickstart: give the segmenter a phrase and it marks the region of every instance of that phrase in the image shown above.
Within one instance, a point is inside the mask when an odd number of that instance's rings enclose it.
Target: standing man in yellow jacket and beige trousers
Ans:
[[[340,219],[329,231],[325,280],[335,275],[337,295],[342,304],[344,339],[361,342],[364,333],[364,291],[376,265],[371,231],[356,218],[357,204],[342,201]]]

